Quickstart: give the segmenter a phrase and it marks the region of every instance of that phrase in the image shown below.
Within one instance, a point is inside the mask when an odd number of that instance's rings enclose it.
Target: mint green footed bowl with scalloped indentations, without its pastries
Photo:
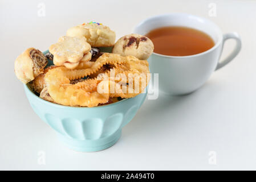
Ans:
[[[44,52],[46,53],[46,52]],[[54,104],[36,96],[24,85],[32,109],[75,151],[94,152],[111,147],[120,138],[122,128],[139,110],[146,93],[109,105],[70,107]]]

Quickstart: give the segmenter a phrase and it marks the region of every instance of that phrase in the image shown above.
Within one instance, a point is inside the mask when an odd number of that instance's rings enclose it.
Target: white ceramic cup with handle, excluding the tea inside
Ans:
[[[159,73],[159,89],[165,94],[182,95],[197,90],[214,71],[233,60],[241,49],[241,39],[236,32],[222,35],[215,23],[190,14],[153,16],[137,25],[133,32],[145,35],[155,28],[166,26],[190,27],[205,32],[214,40],[215,46],[208,51],[191,56],[166,56],[152,53],[148,59],[149,68],[151,73]],[[235,39],[235,48],[226,59],[219,62],[227,39]]]

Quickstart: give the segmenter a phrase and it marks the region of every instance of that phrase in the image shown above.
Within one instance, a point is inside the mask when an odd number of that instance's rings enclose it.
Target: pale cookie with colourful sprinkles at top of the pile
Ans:
[[[116,34],[101,23],[79,24],[67,30],[67,36],[83,36],[92,47],[111,47],[115,44]]]

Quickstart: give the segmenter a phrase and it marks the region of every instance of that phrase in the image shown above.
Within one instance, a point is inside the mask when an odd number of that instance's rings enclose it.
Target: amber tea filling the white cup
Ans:
[[[161,27],[145,36],[152,40],[154,52],[161,55],[196,55],[214,46],[214,41],[209,35],[188,27]]]

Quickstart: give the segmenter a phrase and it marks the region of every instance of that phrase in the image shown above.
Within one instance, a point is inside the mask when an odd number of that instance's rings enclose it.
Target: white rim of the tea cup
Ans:
[[[202,19],[206,22],[210,22],[212,23],[216,28],[217,30],[219,31],[219,33],[222,35],[222,32],[221,32],[221,29],[220,27],[217,26],[216,23],[212,22],[211,20],[207,19],[207,18],[204,18],[204,17],[201,17],[201,16],[197,16],[197,15],[192,15],[192,14],[188,14],[188,13],[166,13],[166,14],[160,14],[160,15],[155,15],[155,16],[150,16],[149,18],[146,18],[144,20],[142,20],[139,24],[137,24],[137,26],[135,28],[133,28],[133,32],[135,34],[137,34],[137,32],[135,31],[137,28],[139,28],[142,24],[146,23],[147,21],[149,20],[152,20],[152,19],[155,19],[155,18],[161,18],[163,16],[173,16],[173,15],[186,15],[186,16],[194,16],[196,18],[199,18],[199,19]],[[185,27],[185,26],[184,26]],[[194,29],[197,29],[197,28],[194,28]],[[153,30],[153,29],[152,29]],[[206,53],[209,53],[211,51],[213,51],[214,49],[216,49],[218,46],[220,46],[221,42],[223,40],[223,36],[220,37],[220,39],[218,39],[217,43],[210,49],[208,49],[207,51],[204,51],[204,52],[201,52],[201,53],[197,53],[195,55],[188,55],[188,56],[169,56],[169,55],[162,55],[160,53],[155,53],[153,52],[152,54],[153,55],[157,55],[157,56],[161,56],[161,57],[168,57],[168,58],[176,58],[176,59],[182,59],[182,58],[189,58],[189,57],[196,57],[196,56],[201,56],[201,55],[205,55]]]

